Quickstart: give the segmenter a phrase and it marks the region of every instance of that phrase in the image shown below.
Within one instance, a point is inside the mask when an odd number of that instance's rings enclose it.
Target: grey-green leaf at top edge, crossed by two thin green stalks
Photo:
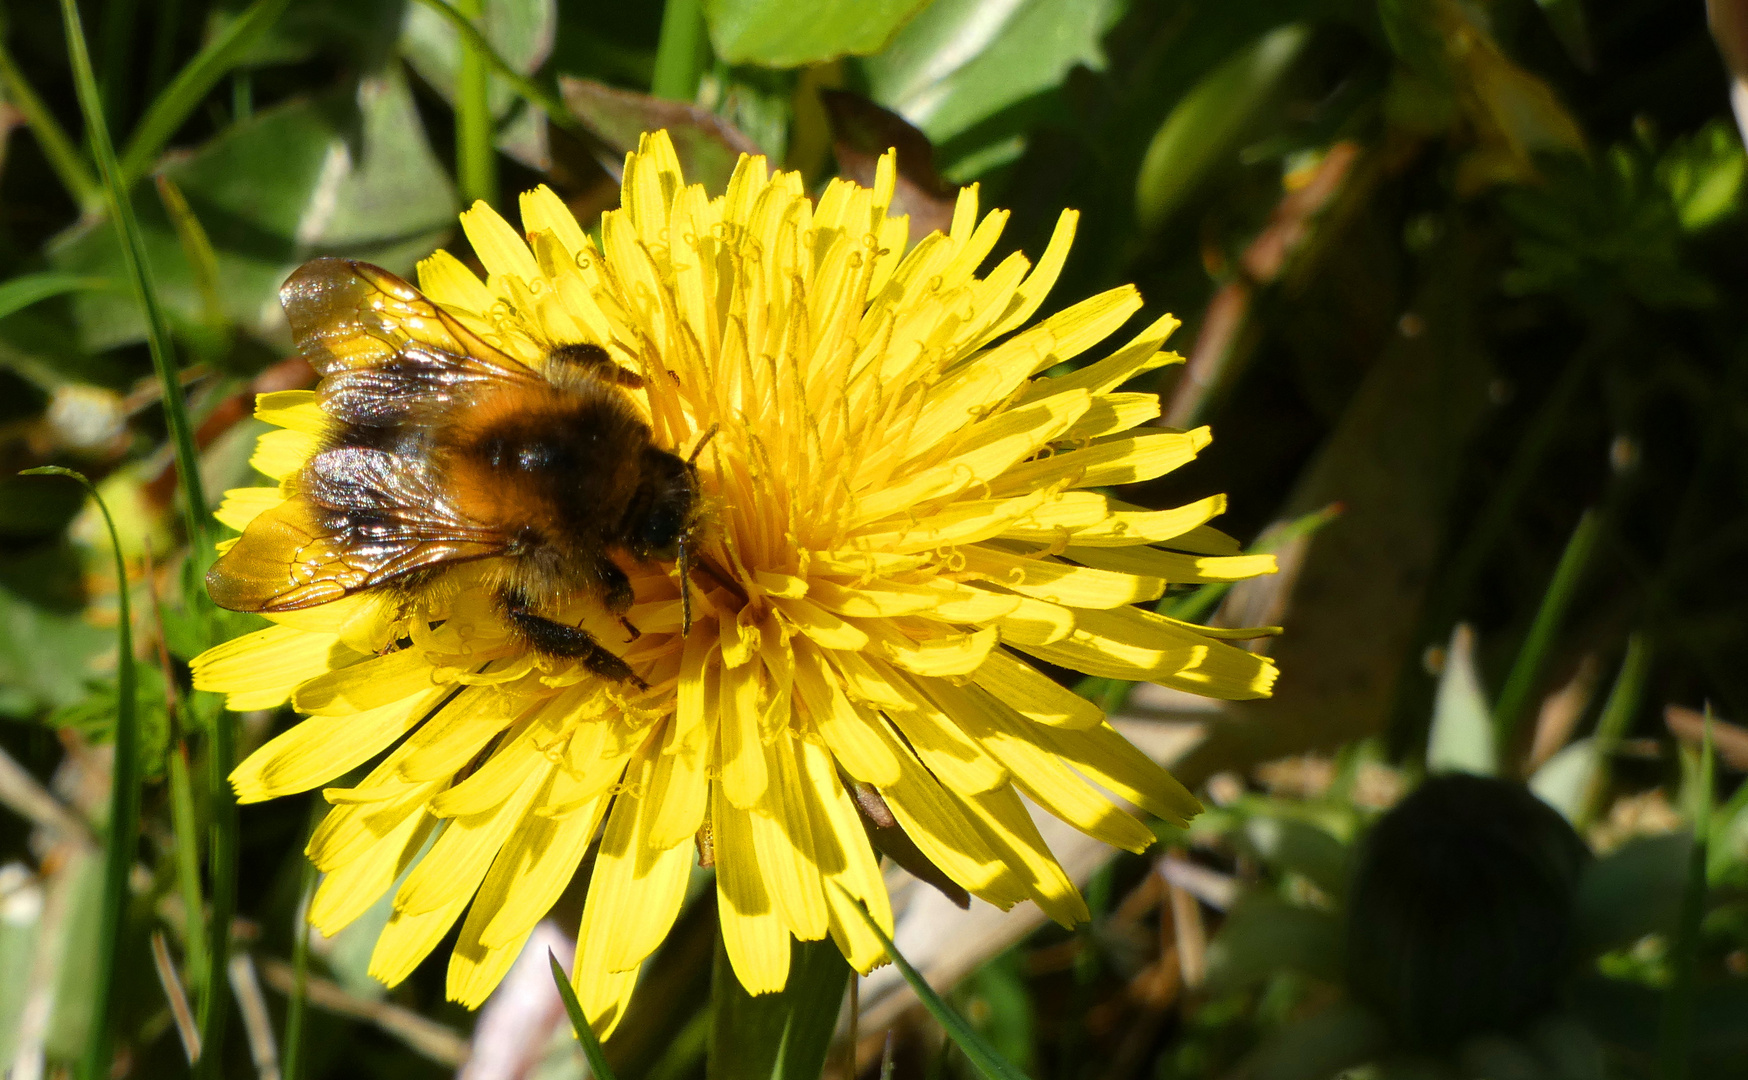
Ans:
[[[510,68],[530,75],[552,52],[556,0],[486,0],[479,28]],[[400,23],[400,54],[446,101],[454,101],[461,70],[461,38],[454,26],[423,3],[407,3]],[[523,164],[549,168],[545,122],[503,79],[489,79],[486,101],[498,121],[496,145]]]

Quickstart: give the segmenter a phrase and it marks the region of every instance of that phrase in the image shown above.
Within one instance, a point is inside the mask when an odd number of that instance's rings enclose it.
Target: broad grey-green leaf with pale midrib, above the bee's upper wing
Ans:
[[[281,339],[280,283],[313,255],[348,255],[411,273],[454,222],[456,196],[393,68],[355,94],[299,100],[234,124],[166,173],[212,239],[225,313],[264,339]],[[175,323],[199,327],[198,278],[157,196],[136,199],[159,295]],[[56,266],[115,274],[105,222],[82,222],[51,245]],[[140,341],[128,297],[79,294],[86,348]]]

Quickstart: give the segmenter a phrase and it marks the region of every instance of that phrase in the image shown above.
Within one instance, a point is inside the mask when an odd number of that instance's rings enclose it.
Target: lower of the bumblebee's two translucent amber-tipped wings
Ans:
[[[302,489],[255,517],[206,573],[213,603],[292,612],[509,549],[500,530],[461,514],[411,458],[343,446],[316,454],[299,481]]]

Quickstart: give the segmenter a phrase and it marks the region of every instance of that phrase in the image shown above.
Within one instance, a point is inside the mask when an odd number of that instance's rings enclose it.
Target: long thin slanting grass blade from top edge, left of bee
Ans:
[[[86,117],[86,138],[91,143],[91,156],[98,163],[98,175],[103,177],[103,201],[108,204],[110,220],[121,239],[128,285],[145,315],[145,343],[163,390],[164,423],[170,428],[170,446],[177,456],[177,475],[182,481],[182,510],[189,542],[194,543],[196,550],[205,552],[208,547],[206,491],[201,486],[199,454],[194,449],[194,426],[189,423],[189,409],[182,398],[182,379],[170,341],[170,322],[157,304],[152,267],[145,259],[145,239],[140,236],[140,222],[133,215],[128,182],[115,161],[115,145],[110,142],[108,124],[103,121],[103,101],[98,94],[96,75],[91,72],[91,52],[86,47],[84,28],[79,24],[79,7],[73,0],[61,0],[61,23],[66,28],[66,54],[73,68],[73,87],[79,91],[79,110]]]

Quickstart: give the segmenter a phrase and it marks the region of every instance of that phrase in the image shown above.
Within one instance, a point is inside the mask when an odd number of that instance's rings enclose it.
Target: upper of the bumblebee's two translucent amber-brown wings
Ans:
[[[369,262],[306,262],[280,288],[280,302],[323,379],[323,405],[343,423],[421,423],[458,398],[477,400],[493,383],[542,381]]]

